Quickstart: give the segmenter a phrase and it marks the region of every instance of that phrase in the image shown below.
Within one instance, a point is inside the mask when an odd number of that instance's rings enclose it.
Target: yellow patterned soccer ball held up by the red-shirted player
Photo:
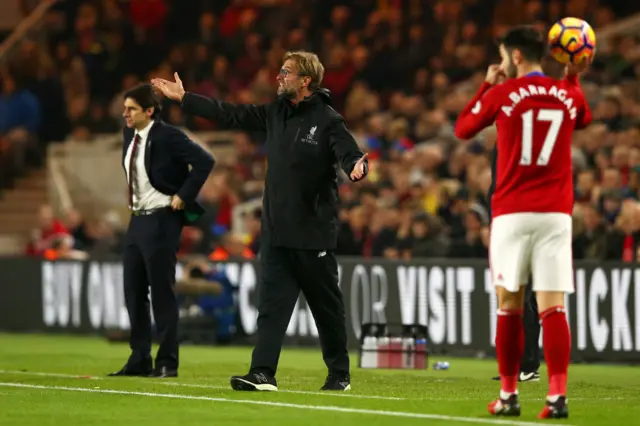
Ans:
[[[553,24],[548,34],[551,55],[562,64],[593,61],[596,53],[596,34],[587,21],[563,18]]]

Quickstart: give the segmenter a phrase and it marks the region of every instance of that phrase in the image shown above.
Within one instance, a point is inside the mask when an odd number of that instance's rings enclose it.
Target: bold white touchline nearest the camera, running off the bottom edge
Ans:
[[[195,400],[195,401],[228,402],[232,404],[266,405],[271,407],[298,408],[302,410],[335,411],[335,412],[352,413],[352,414],[369,414],[369,415],[388,416],[388,417],[431,419],[431,420],[480,423],[480,424],[491,424],[491,425],[538,426],[538,425],[545,424],[545,423],[536,423],[536,422],[519,422],[519,421],[509,421],[509,420],[483,419],[479,417],[477,418],[456,417],[456,416],[446,416],[443,414],[410,413],[410,412],[403,412],[403,411],[386,411],[386,410],[366,410],[362,408],[336,407],[331,405],[291,404],[287,402],[256,401],[256,400],[250,400],[250,399],[214,398],[210,396],[180,395],[180,394],[172,394],[172,393],[135,392],[135,391],[124,391],[124,390],[117,390],[117,389],[89,389],[89,388],[74,388],[74,387],[67,387],[67,386],[43,386],[43,385],[28,385],[25,383],[3,383],[3,382],[0,382],[0,386],[13,387],[13,388],[26,388],[26,389],[71,391],[71,392],[106,393],[106,394],[114,394],[114,395],[148,396],[148,397],[156,397],[156,398],[189,399],[189,400]],[[563,424],[563,425],[571,426],[566,424]]]

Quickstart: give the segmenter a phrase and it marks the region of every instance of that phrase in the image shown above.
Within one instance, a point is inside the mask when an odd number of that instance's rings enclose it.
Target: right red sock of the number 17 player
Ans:
[[[562,306],[540,313],[544,359],[549,372],[549,397],[566,396],[567,372],[571,358],[571,332]]]

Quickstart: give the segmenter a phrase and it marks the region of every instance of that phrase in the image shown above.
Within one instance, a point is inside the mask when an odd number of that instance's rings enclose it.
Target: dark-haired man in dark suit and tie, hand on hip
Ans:
[[[125,366],[110,376],[177,377],[176,255],[184,223],[204,213],[196,196],[214,161],[184,132],[160,120],[160,102],[151,85],[135,87],[124,98],[122,165],[131,210],[123,253],[124,293],[132,352]],[[160,339],[155,368],[149,288]]]

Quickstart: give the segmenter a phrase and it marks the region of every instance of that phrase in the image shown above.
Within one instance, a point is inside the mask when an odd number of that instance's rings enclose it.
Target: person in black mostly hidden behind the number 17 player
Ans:
[[[496,189],[496,161],[498,159],[498,149],[493,148],[491,153],[491,187],[487,196],[489,200],[489,215],[491,216],[491,196]],[[527,285],[525,290],[524,303],[524,353],[520,361],[520,374],[518,381],[528,382],[540,380],[538,368],[540,368],[540,321],[538,319],[538,301],[536,294],[533,292],[531,284]],[[496,376],[493,380],[500,380],[500,376]]]

